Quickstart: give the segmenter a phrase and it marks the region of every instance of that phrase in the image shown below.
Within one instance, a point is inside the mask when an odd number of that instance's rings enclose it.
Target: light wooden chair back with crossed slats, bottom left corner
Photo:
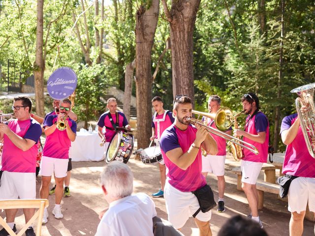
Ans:
[[[20,209],[20,208],[38,208],[29,222],[16,235],[13,230],[0,216],[0,225],[9,233],[10,236],[22,236],[29,226],[38,218],[36,227],[36,236],[41,235],[41,222],[43,219],[44,208],[48,207],[49,201],[47,199],[15,199],[15,200],[0,200],[0,209]]]

